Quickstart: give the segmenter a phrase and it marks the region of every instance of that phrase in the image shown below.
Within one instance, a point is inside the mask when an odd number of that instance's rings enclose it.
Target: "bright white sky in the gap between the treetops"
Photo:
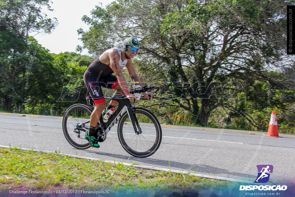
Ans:
[[[50,50],[50,53],[60,52],[76,52],[76,46],[81,45],[82,41],[77,30],[81,27],[83,30],[88,30],[89,26],[82,22],[83,15],[91,16],[90,12],[96,5],[106,6],[114,0],[51,0],[50,4],[53,12],[43,8],[42,12],[47,14],[48,18],[56,17],[58,19],[58,26],[51,34],[37,34],[31,33],[38,43]],[[88,51],[84,49],[82,55],[89,55]]]

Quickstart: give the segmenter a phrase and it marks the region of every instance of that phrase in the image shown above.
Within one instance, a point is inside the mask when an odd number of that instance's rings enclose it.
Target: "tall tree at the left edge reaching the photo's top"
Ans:
[[[34,66],[39,48],[31,48],[29,33],[50,33],[57,25],[56,19],[49,19],[41,13],[41,7],[50,9],[49,0],[6,0],[0,7],[0,82],[6,110],[14,106],[19,113],[24,102],[26,79]],[[43,50],[43,49],[42,49]],[[35,52],[36,51],[36,52]],[[29,71],[30,70],[30,71]]]

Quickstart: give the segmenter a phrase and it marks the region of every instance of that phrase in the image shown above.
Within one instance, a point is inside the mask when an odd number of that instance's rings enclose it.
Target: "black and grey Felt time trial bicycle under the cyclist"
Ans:
[[[155,89],[155,86],[145,86],[131,89],[130,93],[142,93]],[[96,126],[96,137],[99,142],[106,140],[107,133],[117,125],[119,141],[123,149],[134,157],[149,157],[154,154],[162,140],[162,129],[156,116],[149,110],[135,107],[123,96],[105,97],[117,101],[117,110],[105,122],[100,116]],[[95,106],[92,98],[86,97],[89,106]],[[77,149],[88,149],[89,142],[85,132],[89,131],[92,109],[83,104],[69,107],[63,115],[63,133],[67,141]]]

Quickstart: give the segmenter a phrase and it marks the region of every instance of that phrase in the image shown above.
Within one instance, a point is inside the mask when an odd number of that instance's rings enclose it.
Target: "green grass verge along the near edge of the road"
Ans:
[[[0,192],[9,188],[198,190],[232,182],[53,153],[0,148]]]

